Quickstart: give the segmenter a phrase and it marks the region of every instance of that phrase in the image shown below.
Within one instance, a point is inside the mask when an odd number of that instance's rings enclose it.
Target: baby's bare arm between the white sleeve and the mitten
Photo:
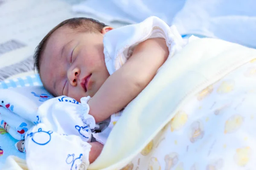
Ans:
[[[120,111],[148,85],[168,55],[169,50],[163,39],[141,42],[128,61],[89,100],[89,114],[96,122],[101,122]]]

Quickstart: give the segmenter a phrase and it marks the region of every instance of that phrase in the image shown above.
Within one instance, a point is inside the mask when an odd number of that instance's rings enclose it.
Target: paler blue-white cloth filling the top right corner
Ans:
[[[256,48],[255,0],[187,0],[172,24],[180,34],[202,34]]]

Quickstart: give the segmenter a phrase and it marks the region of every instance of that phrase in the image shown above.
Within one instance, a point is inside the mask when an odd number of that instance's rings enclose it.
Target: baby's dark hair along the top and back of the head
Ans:
[[[44,51],[44,48],[47,44],[47,41],[49,40],[49,37],[52,35],[54,31],[56,31],[58,28],[61,28],[62,26],[67,26],[72,28],[74,31],[77,32],[90,32],[90,33],[98,33],[102,31],[102,28],[104,28],[104,23],[100,23],[98,20],[94,20],[91,18],[71,18],[68,20],[64,20],[61,23],[58,24],[58,26],[55,26],[52,28],[51,31],[41,40],[41,42],[38,44],[38,46],[35,48],[35,54],[34,54],[34,69],[40,73],[40,59],[41,55]]]

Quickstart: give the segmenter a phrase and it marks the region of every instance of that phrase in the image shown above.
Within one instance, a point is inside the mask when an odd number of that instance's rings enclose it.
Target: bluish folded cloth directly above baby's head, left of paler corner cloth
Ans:
[[[172,23],[175,14],[186,0],[84,0],[73,10],[102,17],[109,22],[139,23],[149,16],[156,16]]]

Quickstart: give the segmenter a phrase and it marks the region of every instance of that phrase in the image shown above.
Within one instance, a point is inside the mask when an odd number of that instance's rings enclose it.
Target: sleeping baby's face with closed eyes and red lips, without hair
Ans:
[[[109,77],[103,53],[102,33],[74,32],[58,28],[41,56],[40,75],[44,87],[55,96],[77,101],[93,96]]]

